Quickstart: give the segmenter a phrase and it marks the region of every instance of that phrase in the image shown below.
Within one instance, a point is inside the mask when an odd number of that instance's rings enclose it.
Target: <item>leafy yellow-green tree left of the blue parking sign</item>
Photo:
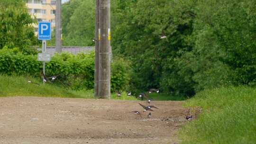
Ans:
[[[23,0],[0,0],[0,49],[18,47],[23,53],[34,53],[31,45],[37,44],[30,17]]]

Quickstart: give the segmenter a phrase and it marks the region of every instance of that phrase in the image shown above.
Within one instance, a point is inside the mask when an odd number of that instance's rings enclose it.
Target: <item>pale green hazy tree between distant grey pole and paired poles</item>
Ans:
[[[94,0],[72,0],[63,6],[63,45],[93,45]]]

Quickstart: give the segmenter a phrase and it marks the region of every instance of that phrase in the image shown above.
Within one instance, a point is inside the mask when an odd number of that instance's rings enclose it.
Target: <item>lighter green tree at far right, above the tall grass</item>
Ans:
[[[198,1],[189,58],[195,89],[256,81],[256,1]]]

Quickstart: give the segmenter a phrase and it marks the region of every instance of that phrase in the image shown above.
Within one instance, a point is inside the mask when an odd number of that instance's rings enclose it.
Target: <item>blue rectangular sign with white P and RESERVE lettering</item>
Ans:
[[[39,40],[51,39],[51,23],[50,22],[38,23],[38,39]]]

